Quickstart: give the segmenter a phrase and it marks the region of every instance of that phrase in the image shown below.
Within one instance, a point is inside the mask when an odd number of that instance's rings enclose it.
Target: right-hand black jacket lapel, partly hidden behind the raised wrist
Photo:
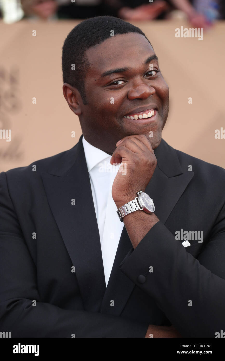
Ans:
[[[163,139],[155,149],[155,156],[157,166],[145,192],[153,199],[156,216],[165,223],[194,173],[182,171],[176,151]],[[126,305],[135,284],[122,274],[119,265],[132,251],[124,226],[100,312],[120,315]],[[110,305],[111,300],[114,300],[114,307]]]

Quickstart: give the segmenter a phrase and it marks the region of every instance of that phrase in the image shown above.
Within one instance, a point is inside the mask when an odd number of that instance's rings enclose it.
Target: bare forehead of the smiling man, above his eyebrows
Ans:
[[[125,66],[135,68],[154,54],[150,43],[141,34],[128,33],[111,36],[86,51],[91,64],[87,76],[98,76],[106,70]]]

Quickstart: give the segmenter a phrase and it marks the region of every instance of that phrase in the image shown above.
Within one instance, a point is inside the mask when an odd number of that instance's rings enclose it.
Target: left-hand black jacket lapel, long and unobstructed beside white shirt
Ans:
[[[53,216],[75,267],[85,310],[98,312],[106,285],[82,136],[72,149],[57,158],[55,168],[42,174],[42,179]],[[72,199],[75,205],[72,205]]]

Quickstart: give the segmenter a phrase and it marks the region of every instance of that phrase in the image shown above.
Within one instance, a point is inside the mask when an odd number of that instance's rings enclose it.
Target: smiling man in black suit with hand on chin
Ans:
[[[62,71],[79,142],[0,174],[1,331],[215,337],[225,325],[225,171],[161,139],[169,88],[139,28],[81,22]],[[124,215],[130,201],[137,210]]]

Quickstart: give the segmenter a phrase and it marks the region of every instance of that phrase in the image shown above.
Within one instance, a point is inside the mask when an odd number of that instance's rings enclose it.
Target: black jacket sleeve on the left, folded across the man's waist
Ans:
[[[85,310],[65,310],[40,300],[36,267],[23,238],[4,172],[0,174],[0,274],[0,330],[11,332],[12,338],[146,335],[148,323]]]

